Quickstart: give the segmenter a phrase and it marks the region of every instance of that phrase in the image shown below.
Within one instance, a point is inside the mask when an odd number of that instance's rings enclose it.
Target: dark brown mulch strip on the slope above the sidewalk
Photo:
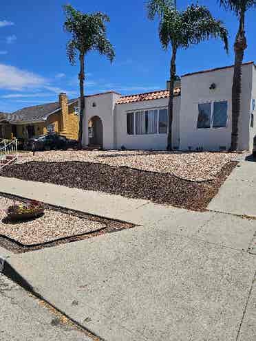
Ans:
[[[195,182],[87,162],[29,162],[3,168],[3,176],[147,199],[190,210],[205,210],[237,162],[228,162],[211,181]]]

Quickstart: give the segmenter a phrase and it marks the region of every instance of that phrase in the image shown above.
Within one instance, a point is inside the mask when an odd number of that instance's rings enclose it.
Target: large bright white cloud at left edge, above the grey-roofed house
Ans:
[[[0,64],[0,89],[21,91],[31,87],[42,87],[45,83],[45,78],[32,72]]]

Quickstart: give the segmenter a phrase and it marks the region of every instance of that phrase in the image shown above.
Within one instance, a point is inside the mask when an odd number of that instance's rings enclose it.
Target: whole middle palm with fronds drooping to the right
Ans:
[[[150,0],[147,3],[149,19],[156,15],[160,19],[159,38],[164,50],[171,45],[170,94],[169,94],[169,133],[167,150],[172,150],[173,89],[176,75],[176,55],[180,48],[187,49],[193,44],[210,38],[220,38],[228,52],[228,32],[222,21],[214,19],[204,6],[189,5],[186,10],[178,11],[175,1]]]

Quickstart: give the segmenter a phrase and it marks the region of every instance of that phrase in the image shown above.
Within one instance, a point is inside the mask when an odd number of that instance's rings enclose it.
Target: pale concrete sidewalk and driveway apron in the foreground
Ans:
[[[140,225],[8,257],[35,292],[97,336],[255,340],[256,220],[17,179],[0,184],[0,192]]]

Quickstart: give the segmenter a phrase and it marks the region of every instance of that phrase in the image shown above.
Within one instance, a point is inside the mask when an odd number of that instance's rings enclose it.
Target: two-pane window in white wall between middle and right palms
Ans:
[[[198,104],[198,129],[224,128],[228,120],[226,100]]]

